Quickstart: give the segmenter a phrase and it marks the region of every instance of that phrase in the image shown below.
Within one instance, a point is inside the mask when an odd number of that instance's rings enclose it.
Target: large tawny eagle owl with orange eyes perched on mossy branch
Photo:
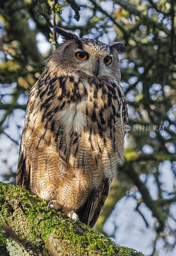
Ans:
[[[29,96],[17,186],[93,227],[124,162],[128,111],[118,52],[127,48],[54,30],[64,42]]]

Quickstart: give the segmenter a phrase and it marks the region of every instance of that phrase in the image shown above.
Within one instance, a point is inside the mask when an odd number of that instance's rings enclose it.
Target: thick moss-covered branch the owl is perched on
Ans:
[[[67,214],[46,212],[46,206],[29,191],[0,182],[0,251],[11,238],[34,256],[144,256],[79,221],[73,226]]]

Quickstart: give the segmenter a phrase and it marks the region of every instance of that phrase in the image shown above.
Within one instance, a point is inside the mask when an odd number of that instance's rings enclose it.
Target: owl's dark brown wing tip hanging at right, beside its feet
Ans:
[[[102,187],[98,190],[92,191],[89,194],[88,200],[83,208],[78,211],[78,216],[81,222],[94,227],[95,222],[98,220],[104,203],[108,197],[112,180],[104,179]]]

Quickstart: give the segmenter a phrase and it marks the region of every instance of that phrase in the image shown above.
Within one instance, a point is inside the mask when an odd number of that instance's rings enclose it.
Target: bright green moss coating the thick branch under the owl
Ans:
[[[18,236],[24,244],[33,243],[40,250],[44,250],[44,240],[53,233],[54,237],[59,239],[65,256],[87,255],[87,252],[93,256],[97,251],[103,256],[143,255],[133,249],[117,246],[111,239],[79,221],[73,226],[67,214],[51,209],[46,212],[46,202],[25,189],[0,182],[0,202],[1,217],[18,231]],[[13,214],[10,210],[6,210],[7,202],[12,209],[15,209]],[[9,205],[8,209],[10,209]],[[82,235],[78,232],[79,227],[85,230]]]

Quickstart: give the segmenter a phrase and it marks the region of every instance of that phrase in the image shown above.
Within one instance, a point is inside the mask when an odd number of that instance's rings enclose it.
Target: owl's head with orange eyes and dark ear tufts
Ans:
[[[118,53],[126,52],[122,43],[104,44],[95,39],[80,38],[71,31],[53,28],[64,42],[52,54],[54,62],[68,72],[82,71],[88,76],[116,76],[120,80]]]

